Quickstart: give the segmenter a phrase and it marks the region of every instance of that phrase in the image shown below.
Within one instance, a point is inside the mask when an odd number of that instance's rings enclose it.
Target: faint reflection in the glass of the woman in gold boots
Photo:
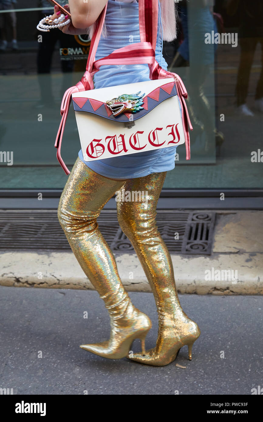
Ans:
[[[189,28],[189,11],[187,1],[183,0],[180,5],[180,16],[184,40],[174,58],[175,67],[190,64],[190,84],[188,87],[188,102],[191,121],[195,133],[204,132],[206,135],[205,150],[212,148],[211,139],[216,138],[218,146],[223,142],[223,134],[214,127],[214,116],[211,106],[204,93],[206,76],[210,72],[210,66],[214,63],[214,50],[217,45],[204,43],[205,34],[212,30],[217,32],[217,21],[213,16],[213,1],[196,0],[191,5],[191,13],[195,22]]]

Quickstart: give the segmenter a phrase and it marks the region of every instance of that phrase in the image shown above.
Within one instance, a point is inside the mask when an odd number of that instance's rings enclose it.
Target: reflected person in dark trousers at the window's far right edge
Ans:
[[[263,3],[262,0],[229,0],[228,14],[239,15],[239,44],[241,48],[236,81],[237,106],[240,114],[254,116],[247,106],[249,75],[258,43],[261,45],[261,73],[255,92],[255,108],[263,111]]]

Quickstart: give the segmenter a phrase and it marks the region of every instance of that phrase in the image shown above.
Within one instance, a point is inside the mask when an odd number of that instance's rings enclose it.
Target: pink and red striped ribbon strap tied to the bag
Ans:
[[[102,59],[95,60],[95,54],[97,51],[98,43],[100,41],[100,35],[102,32],[105,16],[106,16],[107,4],[97,21],[97,26],[93,34],[89,56],[87,60],[86,72],[82,76],[81,80],[70,87],[65,92],[62,103],[60,114],[62,116],[60,127],[57,132],[57,138],[55,141],[55,147],[57,148],[57,159],[60,162],[63,170],[66,174],[70,174],[65,162],[61,157],[61,142],[63,132],[65,128],[66,119],[68,117],[68,110],[71,101],[71,94],[74,92],[88,91],[94,89],[93,76],[100,69],[102,65],[133,65],[140,63],[147,63],[149,66],[149,77],[150,79],[163,79],[163,78],[174,78],[178,98],[182,108],[182,122],[185,136],[185,147],[186,147],[186,159],[190,160],[190,136],[188,130],[188,124],[190,130],[193,130],[190,122],[189,114],[185,99],[187,98],[187,92],[182,82],[182,79],[173,72],[168,72],[161,68],[159,63],[155,60],[155,47],[157,39],[157,24],[158,24],[158,0],[139,0],[139,28],[141,42],[133,43],[129,46],[122,47],[114,50],[111,54]]]

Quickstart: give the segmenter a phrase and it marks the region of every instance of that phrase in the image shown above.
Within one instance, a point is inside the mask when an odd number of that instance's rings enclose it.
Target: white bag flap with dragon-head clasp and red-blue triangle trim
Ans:
[[[177,95],[174,78],[164,78],[76,92],[72,99],[75,111],[127,122],[131,117],[132,120],[140,119],[174,95]]]

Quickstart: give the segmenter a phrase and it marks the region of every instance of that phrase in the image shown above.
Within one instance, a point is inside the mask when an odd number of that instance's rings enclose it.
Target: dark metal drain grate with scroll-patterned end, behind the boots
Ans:
[[[157,211],[157,226],[170,252],[211,254],[215,213]],[[100,231],[114,252],[133,252],[116,211],[102,211]],[[0,210],[1,250],[70,249],[57,211]]]

